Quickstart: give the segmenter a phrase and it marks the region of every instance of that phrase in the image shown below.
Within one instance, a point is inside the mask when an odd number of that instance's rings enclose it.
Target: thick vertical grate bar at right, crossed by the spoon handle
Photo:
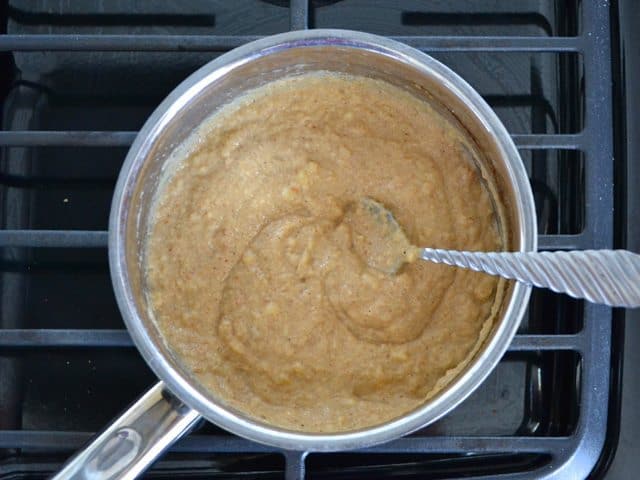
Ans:
[[[584,237],[588,248],[614,245],[614,158],[611,61],[611,2],[582,2],[584,37],[584,125],[586,168]],[[580,415],[571,454],[548,477],[587,478],[606,455],[611,366],[612,309],[586,303],[580,363]],[[565,450],[566,451],[566,450]]]

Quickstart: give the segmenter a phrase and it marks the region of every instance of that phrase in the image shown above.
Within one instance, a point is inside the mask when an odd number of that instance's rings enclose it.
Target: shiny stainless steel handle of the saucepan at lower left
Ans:
[[[133,479],[187,433],[200,414],[157,383],[53,478]]]

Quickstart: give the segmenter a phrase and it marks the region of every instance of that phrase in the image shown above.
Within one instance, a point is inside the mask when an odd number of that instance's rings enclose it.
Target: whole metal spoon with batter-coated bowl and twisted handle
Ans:
[[[369,266],[394,275],[417,258],[497,275],[554,292],[566,293],[612,307],[640,307],[640,255],[627,250],[560,252],[461,252],[411,245],[393,214],[381,203],[365,197],[358,206],[359,222],[372,244]],[[383,253],[380,253],[384,250]]]

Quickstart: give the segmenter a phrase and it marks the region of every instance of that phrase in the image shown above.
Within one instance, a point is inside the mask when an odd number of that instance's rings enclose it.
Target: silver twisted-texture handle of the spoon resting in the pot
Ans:
[[[626,250],[484,253],[424,248],[421,257],[594,303],[640,307],[640,255]]]

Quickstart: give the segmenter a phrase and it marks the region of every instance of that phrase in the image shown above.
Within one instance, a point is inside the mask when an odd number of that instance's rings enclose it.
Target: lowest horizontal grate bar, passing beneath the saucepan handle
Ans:
[[[92,436],[87,432],[0,430],[0,448],[76,450]],[[566,448],[570,437],[418,437],[410,436],[383,445],[357,450],[360,453],[549,453]],[[274,447],[234,435],[189,435],[171,448],[183,453],[282,453]],[[288,452],[285,452],[285,455]],[[296,454],[297,455],[297,454]]]

